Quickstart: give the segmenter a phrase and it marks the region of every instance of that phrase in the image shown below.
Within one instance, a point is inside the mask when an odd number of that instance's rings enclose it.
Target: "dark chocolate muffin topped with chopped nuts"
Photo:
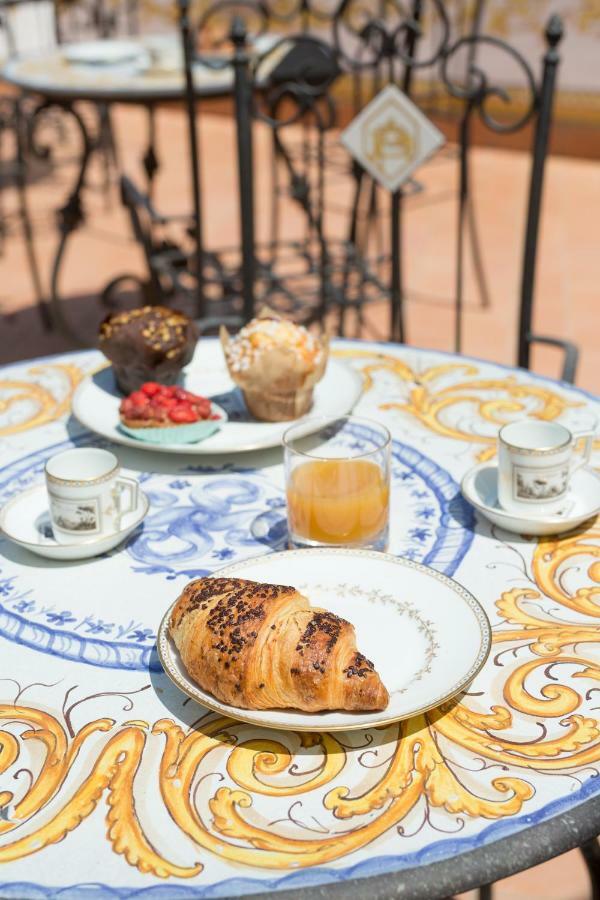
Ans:
[[[113,364],[119,388],[130,394],[146,381],[175,384],[197,340],[196,326],[183,313],[143,306],[107,316],[99,346]]]

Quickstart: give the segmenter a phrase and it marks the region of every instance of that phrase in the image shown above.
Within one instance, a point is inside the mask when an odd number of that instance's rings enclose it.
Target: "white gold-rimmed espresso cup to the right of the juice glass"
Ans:
[[[569,483],[589,462],[595,431],[569,431],[558,422],[521,419],[498,432],[498,500],[523,516],[553,516],[569,504]],[[584,440],[583,454],[575,453]]]

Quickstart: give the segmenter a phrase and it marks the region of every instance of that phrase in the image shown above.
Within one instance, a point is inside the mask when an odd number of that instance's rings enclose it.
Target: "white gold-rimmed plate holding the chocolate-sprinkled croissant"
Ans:
[[[491,646],[488,618],[466,588],[421,563],[369,550],[286,550],[227,566],[218,577],[290,584],[313,606],[350,621],[358,649],[390,694],[380,712],[250,710],[221,703],[188,676],[165,614],[157,639],[169,678],[202,706],[243,722],[295,731],[351,731],[407,719],[460,694]]]

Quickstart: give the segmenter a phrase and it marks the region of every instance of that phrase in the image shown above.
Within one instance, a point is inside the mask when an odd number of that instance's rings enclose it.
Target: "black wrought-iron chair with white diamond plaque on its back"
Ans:
[[[347,13],[353,0],[342,0],[340,7],[333,18],[332,39],[330,42],[306,34],[285,36],[287,44],[310,44],[313,49],[318,48],[323,60],[330,62],[328,71],[334,65],[343,67],[353,72],[357,66],[369,69],[378,76],[378,83],[399,82],[405,93],[410,94],[414,76],[419,68],[431,65],[439,67],[440,79],[448,93],[462,103],[460,119],[459,140],[459,208],[457,223],[457,274],[455,285],[456,302],[456,327],[455,347],[460,349],[462,339],[463,317],[463,259],[464,259],[464,233],[467,217],[467,197],[469,190],[468,157],[471,148],[471,133],[473,120],[476,115],[483,123],[499,133],[511,133],[523,128],[527,123],[533,124],[533,148],[531,155],[531,175],[529,182],[528,210],[526,217],[526,237],[523,248],[522,277],[520,289],[520,321],[518,332],[517,361],[521,366],[528,367],[532,345],[536,343],[549,344],[560,348],[564,353],[563,379],[572,381],[575,375],[577,363],[577,350],[569,342],[555,337],[536,335],[532,331],[533,295],[535,283],[535,267],[537,257],[537,242],[539,232],[539,219],[542,201],[542,187],[544,178],[545,161],[548,151],[548,137],[552,116],[552,102],[555,89],[556,69],[559,62],[558,44],[562,38],[562,23],[557,16],[553,16],[548,22],[545,37],[547,50],[543,58],[542,76],[539,82],[525,59],[506,42],[483,34],[472,34],[459,38],[454,43],[448,41],[448,21],[443,5],[436,0],[434,7],[439,14],[441,25],[441,38],[439,45],[434,48],[427,58],[418,55],[418,42],[422,30],[417,13],[421,9],[421,3],[415,3],[413,12],[415,16],[403,19],[393,29],[386,23],[374,19],[362,25],[360,29],[354,29],[354,38],[358,42],[363,55],[357,56],[356,52],[350,55],[350,51],[344,46],[341,30],[344,27],[344,14]],[[221,4],[222,5],[222,4]],[[251,4],[247,4],[250,6]],[[236,4],[239,10],[244,4]],[[182,4],[182,30],[184,43],[188,48],[186,54],[186,67],[191,73],[192,42],[189,31],[186,31],[185,3]],[[236,127],[238,135],[238,170],[240,185],[240,214],[242,226],[242,294],[248,310],[253,308],[257,296],[261,291],[257,290],[257,284],[264,278],[264,263],[260,259],[254,241],[254,172],[252,159],[252,128],[255,122],[261,121],[273,128],[275,142],[280,153],[285,156],[283,149],[284,129],[295,122],[304,121],[312,117],[313,127],[317,131],[317,158],[322,150],[323,133],[335,124],[335,105],[330,94],[331,78],[325,75],[318,83],[315,77],[314,67],[310,66],[296,73],[294,80],[284,83],[273,79],[261,80],[261,65],[265,62],[265,56],[259,60],[251,61],[247,47],[247,28],[243,16],[236,16],[232,22],[231,40],[234,52],[231,57],[231,65],[235,75],[235,101],[236,101]],[[509,95],[498,86],[491,85],[481,67],[481,64],[472,61],[469,65],[468,77],[465,83],[453,81],[450,75],[450,66],[459,52],[466,50],[471,52],[472,45],[479,48],[479,59],[486,47],[494,47],[508,53],[524,73],[528,91],[529,103],[527,108],[516,120],[505,122],[495,118],[489,109],[489,101],[499,97],[508,102]],[[273,53],[276,48],[271,48]],[[268,54],[267,54],[268,55]],[[200,57],[201,59],[201,57]],[[357,62],[358,60],[358,62]],[[471,54],[471,60],[474,56]],[[209,63],[210,64],[210,63]],[[327,66],[324,66],[327,70]],[[387,75],[385,74],[387,70]],[[262,100],[257,100],[257,97]],[[277,110],[285,101],[292,101],[296,111],[288,116],[285,121],[277,118]],[[324,115],[322,110],[326,109]],[[321,110],[321,112],[319,112]],[[195,100],[193,92],[188,93],[188,112],[190,122],[195,120]],[[190,126],[191,127],[191,126]],[[193,130],[193,129],[192,129]],[[196,150],[197,159],[197,150]],[[402,341],[405,338],[404,326],[404,296],[403,285],[403,260],[401,251],[403,207],[406,201],[406,192],[399,190],[391,196],[391,216],[389,222],[389,244],[391,248],[391,271],[387,284],[382,284],[369,271],[367,262],[361,258],[356,246],[354,235],[348,236],[346,255],[342,263],[344,277],[340,283],[336,283],[336,265],[330,253],[330,245],[324,232],[323,219],[325,208],[323,205],[323,173],[322,165],[320,175],[317,177],[316,186],[309,183],[305,173],[294,170],[289,159],[286,159],[289,173],[289,184],[292,196],[303,206],[311,227],[322,248],[320,260],[320,291],[319,302],[316,308],[309,311],[306,318],[322,318],[332,310],[339,315],[340,331],[344,330],[344,316],[349,307],[360,309],[368,300],[364,291],[365,285],[375,284],[383,288],[390,299],[391,327],[390,336],[394,340]],[[366,173],[359,166],[354,168],[356,180],[356,194],[359,195],[361,183],[367,179]],[[359,292],[352,296],[348,291],[349,280],[346,277],[348,270],[353,267],[360,273]],[[281,279],[271,275],[268,281],[266,296],[272,297],[273,293],[281,293]],[[296,304],[298,307],[298,304]],[[292,310],[293,311],[293,310]]]

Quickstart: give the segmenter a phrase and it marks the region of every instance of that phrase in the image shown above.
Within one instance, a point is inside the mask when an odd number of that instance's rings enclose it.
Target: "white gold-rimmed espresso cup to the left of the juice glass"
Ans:
[[[46,463],[46,488],[54,537],[81,544],[121,530],[121,517],[136,509],[138,484],[120,475],[109,450],[78,447]]]

